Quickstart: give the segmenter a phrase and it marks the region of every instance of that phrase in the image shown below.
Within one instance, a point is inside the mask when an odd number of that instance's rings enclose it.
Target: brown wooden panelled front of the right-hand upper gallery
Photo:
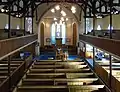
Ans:
[[[109,53],[112,53],[118,57],[120,57],[120,41],[102,37],[95,37],[95,36],[86,36],[86,35],[79,35],[79,40],[87,42],[93,46],[101,48]]]

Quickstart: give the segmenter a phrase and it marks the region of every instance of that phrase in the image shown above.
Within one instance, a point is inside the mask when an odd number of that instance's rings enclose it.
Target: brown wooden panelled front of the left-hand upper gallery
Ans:
[[[37,40],[37,35],[22,36],[0,41],[0,57]]]

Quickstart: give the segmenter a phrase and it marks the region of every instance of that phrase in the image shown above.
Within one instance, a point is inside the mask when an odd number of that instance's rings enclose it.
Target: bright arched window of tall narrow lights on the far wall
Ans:
[[[66,25],[65,23],[53,23],[51,26],[51,43],[55,44],[55,38],[62,38],[62,44],[65,44]]]

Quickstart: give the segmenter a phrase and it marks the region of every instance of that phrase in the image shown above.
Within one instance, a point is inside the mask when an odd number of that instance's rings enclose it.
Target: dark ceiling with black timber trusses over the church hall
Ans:
[[[14,17],[33,16],[37,7],[43,3],[74,3],[79,5],[86,17],[106,16],[111,12],[120,13],[120,0],[0,0],[0,12]]]

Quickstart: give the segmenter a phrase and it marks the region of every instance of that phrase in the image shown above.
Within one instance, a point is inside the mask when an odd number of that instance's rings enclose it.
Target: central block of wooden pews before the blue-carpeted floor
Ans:
[[[105,92],[82,60],[35,61],[14,92]]]

